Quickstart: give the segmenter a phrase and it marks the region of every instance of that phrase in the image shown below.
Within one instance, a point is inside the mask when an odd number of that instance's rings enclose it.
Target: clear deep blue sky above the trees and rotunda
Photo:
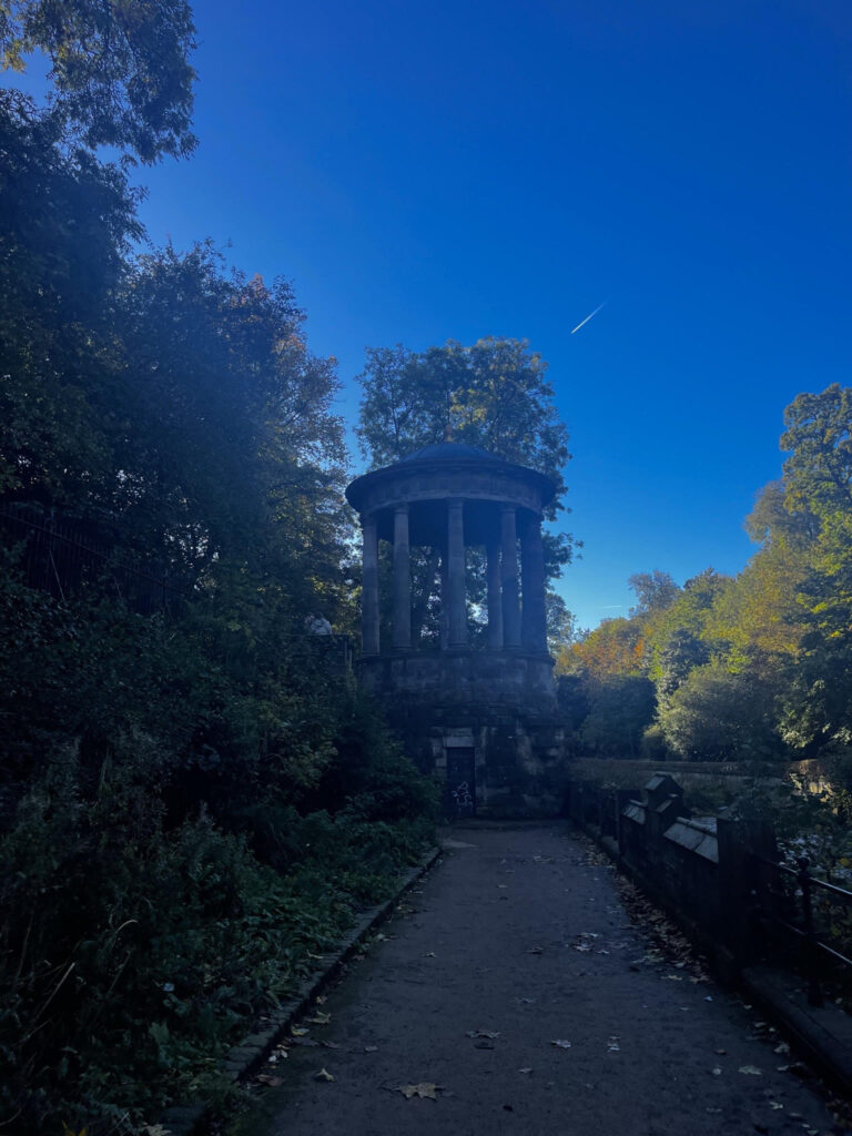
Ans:
[[[151,239],[292,279],[350,420],[367,345],[528,339],[582,625],[632,573],[742,568],[784,407],[849,383],[846,0],[194,9],[200,147],[142,173]]]

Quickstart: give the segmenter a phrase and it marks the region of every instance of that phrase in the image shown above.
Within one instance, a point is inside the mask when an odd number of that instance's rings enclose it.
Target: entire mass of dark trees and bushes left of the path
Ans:
[[[7,61],[53,52],[58,85],[0,93],[0,1124],[106,1136],[218,1091],[434,793],[343,665],[333,360],[285,282],[134,254],[93,151],[191,149],[189,9],[7,8]]]

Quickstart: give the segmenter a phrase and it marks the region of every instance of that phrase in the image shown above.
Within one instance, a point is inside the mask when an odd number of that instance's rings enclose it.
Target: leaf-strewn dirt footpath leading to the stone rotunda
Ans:
[[[755,1035],[755,1009],[696,980],[695,969],[654,959],[611,870],[563,827],[461,828],[448,845],[384,926],[386,938],[270,1067],[283,1084],[267,1091],[265,1119],[249,1130],[842,1130],[784,1068],[794,1058],[782,1039],[761,1026]],[[316,1079],[320,1070],[334,1079]]]

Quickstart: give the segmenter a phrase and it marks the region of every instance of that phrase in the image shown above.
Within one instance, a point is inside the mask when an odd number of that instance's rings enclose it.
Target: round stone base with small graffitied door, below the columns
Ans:
[[[557,817],[567,730],[552,667],[549,655],[450,650],[362,659],[361,680],[438,782],[445,818]]]

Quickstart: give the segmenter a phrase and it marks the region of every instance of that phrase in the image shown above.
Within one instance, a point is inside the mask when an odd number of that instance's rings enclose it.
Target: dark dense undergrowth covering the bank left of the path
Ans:
[[[433,791],[320,659],[247,687],[210,611],[68,607],[10,573],[0,600],[0,1109],[97,1136],[215,1091],[418,855]]]

